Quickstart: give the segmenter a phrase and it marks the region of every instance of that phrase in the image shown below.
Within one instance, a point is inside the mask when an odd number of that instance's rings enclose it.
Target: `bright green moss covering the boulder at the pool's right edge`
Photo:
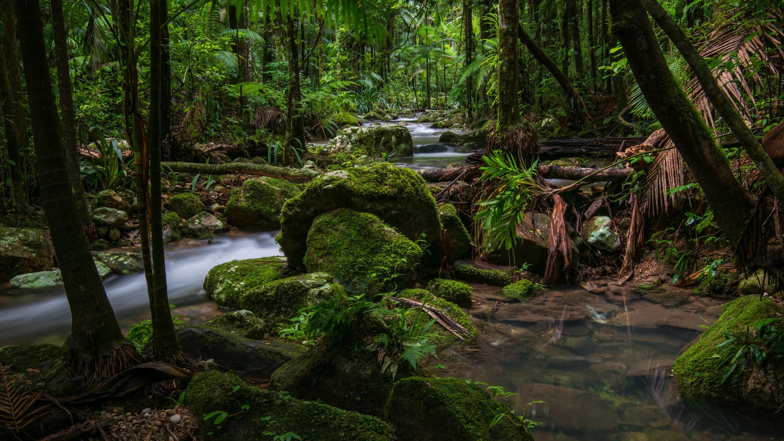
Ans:
[[[737,370],[722,383],[731,369],[726,361],[727,354],[718,347],[726,341],[722,333],[746,330],[746,326],[759,319],[775,317],[781,313],[782,308],[774,302],[767,298],[760,299],[758,296],[744,296],[724,304],[724,312],[720,318],[673,363],[677,384],[687,395],[720,399],[740,398],[747,391],[744,390],[740,381],[741,375]],[[752,362],[746,363],[746,370],[750,369]]]

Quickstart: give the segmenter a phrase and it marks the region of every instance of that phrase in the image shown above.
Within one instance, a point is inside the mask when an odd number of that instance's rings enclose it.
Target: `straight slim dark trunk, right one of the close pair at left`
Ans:
[[[174,333],[174,323],[169,310],[166,291],[166,266],[163,253],[163,222],[161,201],[161,143],[162,143],[162,78],[169,64],[162,63],[163,35],[161,24],[165,21],[161,5],[166,0],[150,2],[150,234],[152,255],[152,344],[157,359],[170,361],[180,351]]]

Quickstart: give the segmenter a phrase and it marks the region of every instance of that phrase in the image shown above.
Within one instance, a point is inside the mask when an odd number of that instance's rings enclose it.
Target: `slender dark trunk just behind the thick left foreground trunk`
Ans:
[[[76,144],[76,118],[74,117],[74,97],[71,93],[71,70],[68,67],[68,44],[65,33],[63,0],[52,0],[52,27],[54,31],[55,64],[57,67],[57,89],[60,91],[60,115],[63,120],[63,142],[65,161],[71,188],[74,189],[76,206],[82,228],[90,231],[95,228],[90,221],[85,188],[82,185],[82,170],[79,169],[79,152]],[[93,230],[94,231],[94,230]],[[92,232],[90,236],[94,237]]]

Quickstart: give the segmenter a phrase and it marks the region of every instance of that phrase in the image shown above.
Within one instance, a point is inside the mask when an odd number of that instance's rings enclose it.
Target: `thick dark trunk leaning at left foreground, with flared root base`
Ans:
[[[71,307],[71,336],[67,341],[71,366],[93,378],[106,377],[129,367],[136,353],[125,344],[82,233],[57,121],[38,0],[16,0],[16,17],[32,109],[41,201]]]

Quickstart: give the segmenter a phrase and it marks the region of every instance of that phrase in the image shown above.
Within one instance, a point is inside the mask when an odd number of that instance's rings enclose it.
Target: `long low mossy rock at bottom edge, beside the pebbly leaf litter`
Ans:
[[[308,441],[388,441],[394,436],[394,428],[379,418],[255,388],[237,375],[216,370],[195,376],[185,400],[205,441],[269,440],[263,432],[293,432]],[[245,405],[247,410],[242,409]],[[204,419],[216,411],[230,415],[220,429],[214,417]]]

